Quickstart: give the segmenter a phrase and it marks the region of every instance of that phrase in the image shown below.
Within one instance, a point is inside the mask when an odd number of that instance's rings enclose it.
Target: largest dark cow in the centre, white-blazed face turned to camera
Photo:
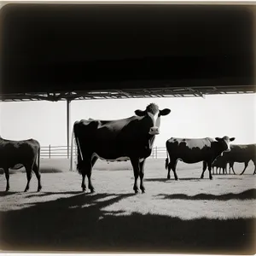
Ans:
[[[88,177],[90,192],[94,192],[91,183],[91,170],[98,158],[108,161],[131,160],[134,172],[135,193],[138,192],[137,178],[140,176],[140,189],[143,185],[144,164],[151,154],[154,137],[160,133],[160,116],[171,112],[165,108],[160,110],[151,103],[142,110],[136,110],[137,116],[117,120],[80,120],[73,125],[73,137],[78,147],[77,169],[82,174],[82,189],[86,189],[84,178]],[[73,140],[72,140],[73,142]],[[72,146],[73,148],[73,143]],[[71,170],[73,149],[71,154]]]

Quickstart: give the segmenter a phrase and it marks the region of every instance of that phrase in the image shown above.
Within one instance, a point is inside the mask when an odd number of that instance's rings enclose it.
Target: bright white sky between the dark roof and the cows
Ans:
[[[256,94],[71,102],[71,129],[79,119],[123,119],[151,102],[171,113],[161,117],[154,146],[171,137],[236,137],[256,143]],[[10,140],[34,138],[41,146],[67,145],[67,102],[0,102],[0,135]]]

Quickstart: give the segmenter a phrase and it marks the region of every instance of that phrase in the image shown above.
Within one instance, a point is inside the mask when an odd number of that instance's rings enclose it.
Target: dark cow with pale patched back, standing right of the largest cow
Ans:
[[[168,168],[167,178],[170,178],[170,171],[172,169],[174,177],[177,180],[176,166],[177,160],[182,160],[184,163],[194,164],[204,161],[203,172],[201,178],[204,177],[204,172],[209,171],[209,178],[212,179],[212,162],[222,154],[224,151],[230,150],[230,142],[235,140],[235,137],[215,138],[214,141],[210,137],[206,138],[175,138],[166,141],[166,149],[170,156],[170,163],[168,163],[168,155],[166,158],[166,169]]]

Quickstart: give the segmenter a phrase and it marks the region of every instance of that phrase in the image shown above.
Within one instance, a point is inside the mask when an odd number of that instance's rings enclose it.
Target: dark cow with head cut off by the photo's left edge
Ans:
[[[36,163],[38,157],[38,164]],[[42,189],[41,176],[39,173],[40,144],[38,141],[29,139],[24,141],[9,141],[0,137],[0,168],[3,168],[6,177],[6,189],[9,191],[9,168],[26,169],[26,192],[32,178],[32,170],[38,178],[38,191]]]

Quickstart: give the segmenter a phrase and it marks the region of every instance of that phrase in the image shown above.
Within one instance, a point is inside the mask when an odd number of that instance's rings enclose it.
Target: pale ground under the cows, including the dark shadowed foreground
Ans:
[[[54,164],[54,165],[53,165]],[[48,165],[48,166],[47,166]],[[50,167],[49,167],[50,166]],[[54,166],[54,167],[52,167]],[[43,190],[26,174],[0,175],[0,248],[11,251],[255,253],[256,175],[214,175],[201,164],[178,164],[166,179],[165,160],[148,160],[146,194],[134,195],[131,163],[96,163],[95,194],[67,161],[43,161]],[[51,169],[50,169],[51,168]],[[242,165],[235,166],[237,173]],[[47,172],[47,170],[52,170]],[[55,170],[57,170],[55,172]],[[112,171],[111,171],[112,170]],[[238,172],[239,171],[239,172]]]

